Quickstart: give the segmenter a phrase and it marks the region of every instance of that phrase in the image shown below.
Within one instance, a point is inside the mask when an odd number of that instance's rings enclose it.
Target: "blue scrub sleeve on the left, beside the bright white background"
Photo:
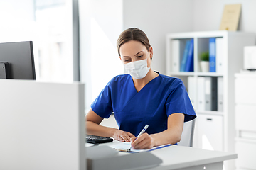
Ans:
[[[105,88],[100,92],[100,95],[97,96],[95,101],[91,104],[92,111],[102,118],[109,118],[113,112],[111,84],[112,80],[105,86]]]

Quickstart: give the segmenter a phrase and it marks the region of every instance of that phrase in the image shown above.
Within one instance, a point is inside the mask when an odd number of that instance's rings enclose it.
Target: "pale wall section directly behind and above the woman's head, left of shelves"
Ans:
[[[166,34],[193,30],[191,0],[124,0],[124,29],[137,27],[154,50],[152,69],[165,74]]]

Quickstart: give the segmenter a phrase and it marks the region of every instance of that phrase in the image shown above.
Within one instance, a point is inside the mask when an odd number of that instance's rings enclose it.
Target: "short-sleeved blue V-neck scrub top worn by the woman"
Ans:
[[[114,113],[119,129],[135,136],[146,124],[149,125],[146,130],[149,134],[166,130],[167,118],[172,113],[183,113],[185,122],[196,118],[183,81],[162,74],[139,92],[129,74],[114,77],[91,108],[102,118],[109,118]]]

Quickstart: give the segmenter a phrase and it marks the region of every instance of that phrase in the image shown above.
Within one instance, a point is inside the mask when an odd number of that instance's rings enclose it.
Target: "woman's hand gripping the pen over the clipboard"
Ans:
[[[134,149],[151,149],[154,147],[154,139],[147,133],[139,137],[132,137],[131,142]]]

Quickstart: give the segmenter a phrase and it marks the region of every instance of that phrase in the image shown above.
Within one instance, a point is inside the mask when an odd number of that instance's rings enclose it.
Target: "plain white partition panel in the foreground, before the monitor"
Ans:
[[[84,84],[0,79],[0,169],[85,169]]]

